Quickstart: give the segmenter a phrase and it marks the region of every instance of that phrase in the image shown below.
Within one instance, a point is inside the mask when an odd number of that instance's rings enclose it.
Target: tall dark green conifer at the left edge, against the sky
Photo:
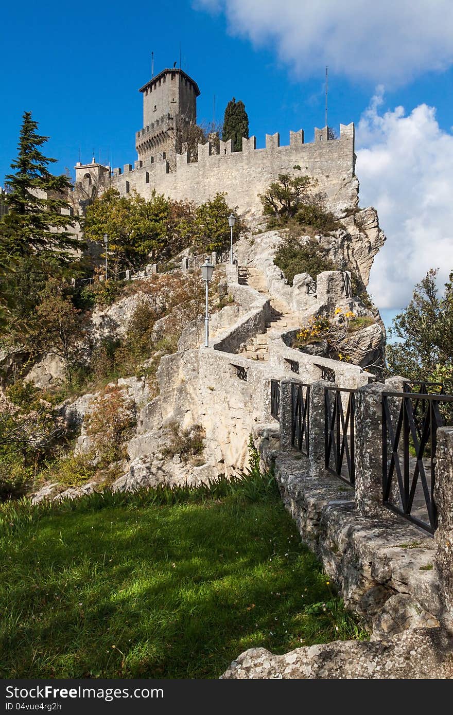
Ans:
[[[0,238],[8,246],[10,256],[52,255],[68,262],[68,249],[82,247],[77,237],[67,229],[74,222],[62,209],[69,209],[66,193],[71,182],[64,176],[54,176],[47,167],[57,159],[40,152],[49,137],[36,132],[37,122],[31,112],[24,112],[19,135],[18,157],[11,164],[13,174],[6,176],[6,203],[9,213],[0,222]]]

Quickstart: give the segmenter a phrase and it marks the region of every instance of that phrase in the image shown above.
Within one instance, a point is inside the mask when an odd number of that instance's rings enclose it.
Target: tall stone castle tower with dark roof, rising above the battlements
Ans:
[[[143,95],[143,128],[135,135],[142,166],[176,161],[178,134],[197,121],[198,84],[182,69],[162,69],[140,87]]]

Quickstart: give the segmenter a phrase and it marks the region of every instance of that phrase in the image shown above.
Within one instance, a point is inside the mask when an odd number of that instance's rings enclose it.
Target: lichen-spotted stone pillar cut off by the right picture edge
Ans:
[[[434,502],[439,526],[434,534],[437,543],[435,560],[439,596],[444,608],[442,622],[453,632],[453,427],[437,430],[436,460]]]

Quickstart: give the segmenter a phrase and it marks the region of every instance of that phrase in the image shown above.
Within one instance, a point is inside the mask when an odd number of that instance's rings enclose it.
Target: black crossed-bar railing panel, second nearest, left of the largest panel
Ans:
[[[326,469],[354,484],[356,391],[348,388],[325,388],[324,410]]]

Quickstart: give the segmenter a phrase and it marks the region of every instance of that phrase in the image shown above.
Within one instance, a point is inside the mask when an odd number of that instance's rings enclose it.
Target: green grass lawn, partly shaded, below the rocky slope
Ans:
[[[275,483],[0,509],[2,678],[216,678],[361,638]]]

